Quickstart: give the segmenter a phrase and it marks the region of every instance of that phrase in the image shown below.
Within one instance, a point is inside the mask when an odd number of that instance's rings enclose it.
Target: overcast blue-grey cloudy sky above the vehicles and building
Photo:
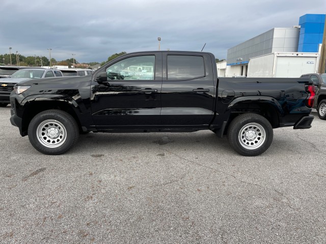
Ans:
[[[212,52],[274,27],[325,14],[325,0],[1,0],[0,54],[103,62],[114,53],[158,50]]]

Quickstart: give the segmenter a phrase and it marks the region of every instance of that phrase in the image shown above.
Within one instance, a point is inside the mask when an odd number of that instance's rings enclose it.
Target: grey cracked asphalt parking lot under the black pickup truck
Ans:
[[[0,243],[325,243],[326,121],[258,157],[212,132],[81,135],[42,155],[0,108]]]

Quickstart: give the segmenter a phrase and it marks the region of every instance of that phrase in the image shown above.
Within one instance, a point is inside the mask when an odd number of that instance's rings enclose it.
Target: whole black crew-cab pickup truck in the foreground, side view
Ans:
[[[227,135],[241,155],[262,154],[273,129],[308,129],[311,79],[218,78],[206,52],[120,56],[93,74],[29,80],[11,93],[12,125],[43,154],[65,153],[88,132],[194,132]]]

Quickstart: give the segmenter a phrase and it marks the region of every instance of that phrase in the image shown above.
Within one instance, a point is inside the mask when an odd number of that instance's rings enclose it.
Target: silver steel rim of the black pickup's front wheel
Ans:
[[[44,120],[36,129],[39,142],[46,147],[56,148],[67,139],[66,128],[57,120]]]

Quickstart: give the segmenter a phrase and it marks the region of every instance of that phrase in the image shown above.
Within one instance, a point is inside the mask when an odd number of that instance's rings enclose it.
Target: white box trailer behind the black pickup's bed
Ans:
[[[274,52],[249,59],[247,77],[295,78],[317,73],[318,53]]]

